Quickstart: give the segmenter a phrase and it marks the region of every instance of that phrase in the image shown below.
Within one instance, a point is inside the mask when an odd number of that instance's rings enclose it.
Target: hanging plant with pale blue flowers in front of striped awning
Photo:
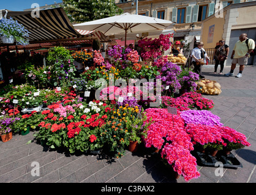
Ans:
[[[17,44],[27,45],[29,43],[29,32],[22,24],[10,17],[0,20],[0,35],[3,43],[12,44],[16,40]]]

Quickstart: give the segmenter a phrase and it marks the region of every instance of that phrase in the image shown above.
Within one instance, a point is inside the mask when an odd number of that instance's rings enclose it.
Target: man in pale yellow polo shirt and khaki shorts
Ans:
[[[247,34],[241,34],[239,36],[239,41],[236,42],[235,48],[233,49],[232,55],[230,57],[230,59],[232,59],[230,72],[227,74],[224,74],[224,76],[234,76],[234,69],[236,68],[236,64],[238,63],[240,67],[239,67],[239,73],[236,77],[238,78],[242,77],[244,65],[247,65],[249,54],[254,50],[254,48],[255,48],[254,40],[248,39]]]

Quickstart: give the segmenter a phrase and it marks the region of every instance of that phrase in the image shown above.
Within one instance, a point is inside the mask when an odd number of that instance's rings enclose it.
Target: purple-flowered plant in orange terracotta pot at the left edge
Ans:
[[[15,117],[15,118],[1,118],[0,119],[0,135],[2,142],[7,142],[12,139],[12,124],[15,121],[20,120],[20,118]]]

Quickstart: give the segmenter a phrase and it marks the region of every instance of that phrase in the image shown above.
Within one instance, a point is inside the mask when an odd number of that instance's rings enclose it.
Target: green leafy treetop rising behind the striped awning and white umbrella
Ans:
[[[64,10],[71,22],[83,23],[122,13],[115,0],[63,0]]]

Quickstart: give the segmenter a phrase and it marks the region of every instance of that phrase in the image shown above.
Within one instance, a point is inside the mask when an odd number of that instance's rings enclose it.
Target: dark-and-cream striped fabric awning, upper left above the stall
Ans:
[[[2,10],[2,15],[6,10]],[[40,10],[40,16],[32,17],[31,12],[13,12],[7,10],[7,18],[12,17],[29,31],[29,43],[34,41],[62,40],[82,37],[73,28],[62,8]]]

